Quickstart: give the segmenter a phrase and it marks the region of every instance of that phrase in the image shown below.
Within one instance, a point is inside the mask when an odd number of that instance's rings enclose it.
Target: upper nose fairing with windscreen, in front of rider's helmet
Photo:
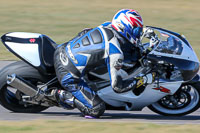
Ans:
[[[160,43],[149,53],[148,59],[173,64],[181,71],[184,81],[191,80],[199,70],[199,60],[188,41],[178,33],[155,28]]]

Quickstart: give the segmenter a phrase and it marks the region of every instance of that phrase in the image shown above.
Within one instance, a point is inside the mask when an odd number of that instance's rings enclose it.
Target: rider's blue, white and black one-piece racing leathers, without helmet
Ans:
[[[74,96],[74,104],[83,115],[98,117],[105,110],[104,102],[83,79],[91,69],[105,64],[116,93],[140,86],[135,78],[123,80],[127,76],[121,69],[126,65],[124,60],[135,58],[132,49],[133,44],[121,37],[110,22],[84,30],[71,41],[58,46],[54,55],[58,80]]]

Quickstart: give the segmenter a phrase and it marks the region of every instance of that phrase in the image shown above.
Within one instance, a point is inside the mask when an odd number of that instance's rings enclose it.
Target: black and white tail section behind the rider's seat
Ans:
[[[6,48],[33,67],[53,71],[56,43],[39,33],[11,32],[1,37]]]

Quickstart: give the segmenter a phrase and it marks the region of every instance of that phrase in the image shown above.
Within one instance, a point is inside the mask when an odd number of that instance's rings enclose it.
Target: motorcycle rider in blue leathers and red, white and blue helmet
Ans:
[[[83,76],[100,64],[107,65],[110,83],[116,93],[125,93],[152,83],[154,74],[123,80],[132,67],[134,49],[143,31],[139,13],[132,9],[118,11],[112,22],[85,29],[67,43],[59,45],[54,54],[57,78],[66,90],[58,90],[56,99],[62,106],[76,106],[84,116],[99,117],[105,111],[104,102],[89,87]],[[137,51],[135,51],[137,52]],[[70,93],[68,93],[70,92]]]

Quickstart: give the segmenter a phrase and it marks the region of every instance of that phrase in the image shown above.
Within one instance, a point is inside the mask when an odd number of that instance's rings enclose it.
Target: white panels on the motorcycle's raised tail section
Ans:
[[[12,32],[6,34],[6,37],[16,37],[16,38],[39,38],[41,34],[38,33],[26,33],[26,32]],[[5,41],[5,44],[12,49],[16,54],[25,59],[27,62],[33,66],[40,66],[40,56],[39,56],[39,46],[37,43],[17,43]]]

